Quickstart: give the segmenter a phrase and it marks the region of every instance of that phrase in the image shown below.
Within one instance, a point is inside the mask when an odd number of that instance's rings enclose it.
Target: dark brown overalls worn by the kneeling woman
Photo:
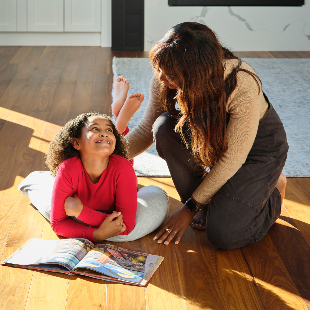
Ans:
[[[288,144],[280,117],[264,96],[269,109],[259,121],[246,162],[209,204],[207,237],[222,249],[235,249],[261,240],[280,216],[281,196],[276,184],[286,161]],[[157,152],[166,160],[184,203],[200,184],[202,170],[174,127],[175,119],[163,113],[153,125],[153,136]]]

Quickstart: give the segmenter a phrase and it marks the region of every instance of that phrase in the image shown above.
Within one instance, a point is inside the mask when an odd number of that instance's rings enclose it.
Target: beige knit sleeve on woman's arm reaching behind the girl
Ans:
[[[130,158],[143,153],[153,144],[152,126],[157,117],[165,112],[161,106],[159,88],[160,82],[153,76],[150,82],[150,97],[143,117],[138,125],[126,135]]]

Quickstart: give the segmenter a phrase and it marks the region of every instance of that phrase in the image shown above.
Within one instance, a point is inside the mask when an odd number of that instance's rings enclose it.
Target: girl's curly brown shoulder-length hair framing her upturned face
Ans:
[[[85,126],[87,119],[91,116],[102,116],[110,122],[116,142],[115,150],[112,154],[128,159],[127,140],[122,133],[117,130],[112,118],[107,114],[96,112],[82,113],[60,128],[57,135],[47,148],[45,162],[53,175],[56,175],[60,164],[66,159],[69,157],[80,156],[79,151],[73,147],[73,141],[74,138],[78,139],[81,137],[81,130]]]

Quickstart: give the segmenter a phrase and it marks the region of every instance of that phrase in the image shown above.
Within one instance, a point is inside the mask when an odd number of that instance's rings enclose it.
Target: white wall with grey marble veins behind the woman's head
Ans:
[[[206,24],[233,51],[310,51],[310,0],[302,7],[169,7],[144,0],[144,50],[176,24]]]

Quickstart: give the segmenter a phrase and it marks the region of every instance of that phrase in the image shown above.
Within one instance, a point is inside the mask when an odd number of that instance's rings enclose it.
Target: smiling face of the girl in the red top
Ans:
[[[102,116],[91,116],[82,127],[81,136],[74,139],[73,147],[80,154],[110,156],[115,149],[115,136],[110,122]]]

